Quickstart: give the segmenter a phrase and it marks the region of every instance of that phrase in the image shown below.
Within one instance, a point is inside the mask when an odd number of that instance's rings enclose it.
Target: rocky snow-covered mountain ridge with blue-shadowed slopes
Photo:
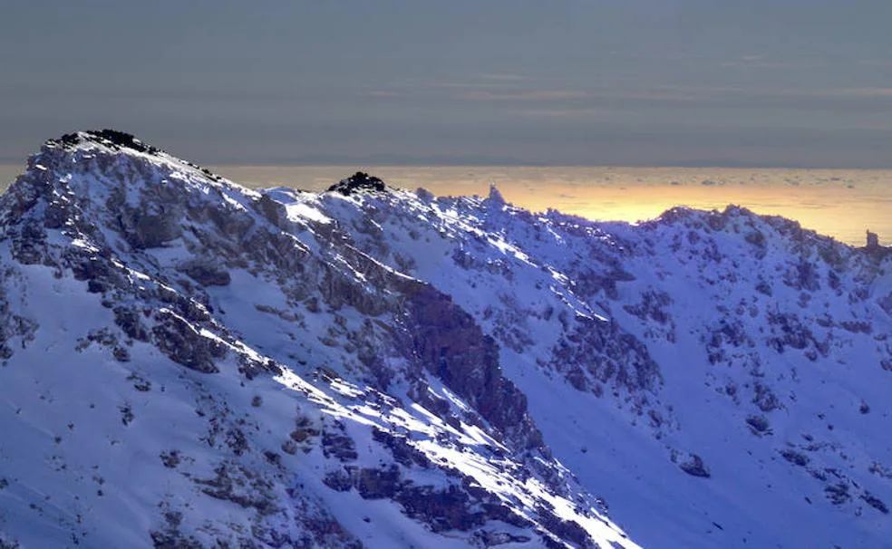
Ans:
[[[880,547],[892,262],[127,134],[0,197],[0,547]]]

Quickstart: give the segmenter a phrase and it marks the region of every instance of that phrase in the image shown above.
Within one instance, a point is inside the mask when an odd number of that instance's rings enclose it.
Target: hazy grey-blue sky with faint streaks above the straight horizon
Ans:
[[[892,166],[888,0],[0,5],[0,161]]]

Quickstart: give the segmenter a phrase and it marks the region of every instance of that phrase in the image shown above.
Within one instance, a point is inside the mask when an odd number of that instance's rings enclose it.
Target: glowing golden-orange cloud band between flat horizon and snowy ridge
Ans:
[[[806,228],[862,246],[865,230],[892,242],[892,170],[609,167],[220,167],[235,181],[321,190],[357,169],[402,188],[439,196],[479,195],[495,182],[519,207],[604,221],[652,219],[675,206],[789,217]]]

